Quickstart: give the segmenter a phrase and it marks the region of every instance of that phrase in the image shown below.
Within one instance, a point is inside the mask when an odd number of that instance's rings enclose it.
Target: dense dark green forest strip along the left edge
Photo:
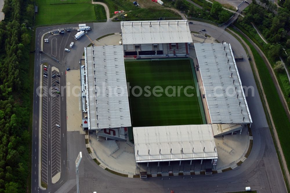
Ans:
[[[0,192],[27,192],[31,135],[29,50],[34,5],[5,0],[0,22]],[[33,85],[33,84],[32,84]]]

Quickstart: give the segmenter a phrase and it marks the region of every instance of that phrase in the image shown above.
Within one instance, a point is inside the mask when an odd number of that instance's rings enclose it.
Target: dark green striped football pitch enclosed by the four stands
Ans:
[[[189,60],[125,61],[125,67],[131,86],[129,99],[133,127],[206,124]],[[142,94],[135,86],[142,88]],[[186,93],[193,96],[184,94],[186,86],[191,86]],[[163,92],[155,92],[162,96],[153,95],[154,87],[156,91],[163,89]],[[182,87],[180,96],[178,87]],[[175,94],[172,88],[175,88]]]

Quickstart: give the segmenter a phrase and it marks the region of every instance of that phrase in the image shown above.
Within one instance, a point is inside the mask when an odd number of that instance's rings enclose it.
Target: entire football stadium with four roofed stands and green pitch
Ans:
[[[251,126],[231,45],[193,44],[188,25],[125,21],[122,45],[84,48],[83,128],[106,139],[127,137],[136,167],[186,161],[211,174],[218,161],[214,137]]]

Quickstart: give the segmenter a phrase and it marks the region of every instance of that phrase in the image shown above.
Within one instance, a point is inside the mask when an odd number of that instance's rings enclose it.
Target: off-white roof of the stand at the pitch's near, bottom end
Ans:
[[[134,127],[137,163],[217,159],[211,125]]]

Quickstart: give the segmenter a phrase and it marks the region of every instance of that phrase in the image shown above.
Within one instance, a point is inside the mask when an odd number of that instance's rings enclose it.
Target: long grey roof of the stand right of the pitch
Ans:
[[[229,43],[194,43],[211,123],[252,123]]]

